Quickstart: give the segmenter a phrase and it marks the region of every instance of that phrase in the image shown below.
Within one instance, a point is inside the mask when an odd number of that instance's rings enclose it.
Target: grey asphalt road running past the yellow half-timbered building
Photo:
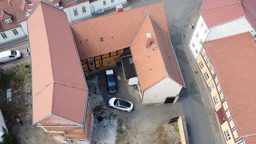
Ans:
[[[132,8],[160,2],[158,0],[140,0],[131,5]],[[201,6],[202,0],[199,0]],[[193,72],[187,58],[185,45],[186,31],[190,28],[190,22],[197,8],[196,0],[165,0],[167,21],[170,30],[171,41],[179,65],[185,79],[186,88],[182,88],[178,105],[181,114],[185,116],[189,143],[217,143],[211,117],[202,92],[199,91]],[[199,8],[198,8],[199,9]],[[195,16],[198,14],[198,9]],[[186,53],[185,53],[186,52]],[[211,125],[211,126],[210,126]]]

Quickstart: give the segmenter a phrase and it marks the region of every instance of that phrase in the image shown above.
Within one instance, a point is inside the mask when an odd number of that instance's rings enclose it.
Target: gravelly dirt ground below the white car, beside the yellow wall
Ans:
[[[168,129],[170,129],[170,132]],[[176,122],[160,125],[126,119],[118,120],[115,141],[117,144],[170,144],[180,141],[179,128]]]

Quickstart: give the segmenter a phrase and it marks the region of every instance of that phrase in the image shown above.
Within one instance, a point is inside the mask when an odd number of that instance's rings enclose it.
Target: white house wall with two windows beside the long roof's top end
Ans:
[[[86,7],[86,13],[83,13],[82,6]],[[78,15],[75,16],[73,9],[77,8]],[[89,1],[79,3],[74,6],[66,7],[63,9],[67,14],[67,19],[69,22],[76,22],[87,17],[91,17],[91,9]]]

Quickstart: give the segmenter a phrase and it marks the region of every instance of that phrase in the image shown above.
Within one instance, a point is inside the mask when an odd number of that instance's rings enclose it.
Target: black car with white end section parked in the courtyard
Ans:
[[[109,93],[117,92],[117,84],[115,82],[115,75],[113,70],[106,70],[106,81],[107,81],[107,91]]]

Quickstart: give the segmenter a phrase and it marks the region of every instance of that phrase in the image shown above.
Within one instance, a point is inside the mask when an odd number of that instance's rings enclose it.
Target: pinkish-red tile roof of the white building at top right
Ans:
[[[256,27],[255,0],[204,0],[199,10],[207,27],[246,16]]]

